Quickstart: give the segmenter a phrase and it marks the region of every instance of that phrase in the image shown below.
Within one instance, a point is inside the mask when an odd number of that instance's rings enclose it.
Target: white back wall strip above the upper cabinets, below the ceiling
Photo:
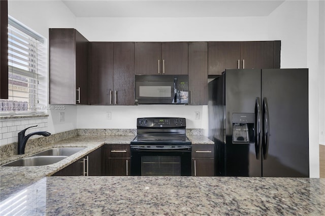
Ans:
[[[77,18],[89,41],[268,40],[267,17]],[[238,33],[240,32],[240,33]]]

